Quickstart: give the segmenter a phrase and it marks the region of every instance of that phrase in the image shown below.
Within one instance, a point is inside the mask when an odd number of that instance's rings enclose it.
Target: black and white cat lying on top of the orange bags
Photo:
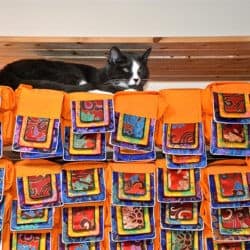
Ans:
[[[101,69],[62,61],[23,59],[6,65],[0,71],[0,85],[16,89],[20,83],[27,83],[34,88],[66,92],[143,90],[149,77],[147,60],[150,52],[151,48],[138,55],[112,47],[107,64]]]

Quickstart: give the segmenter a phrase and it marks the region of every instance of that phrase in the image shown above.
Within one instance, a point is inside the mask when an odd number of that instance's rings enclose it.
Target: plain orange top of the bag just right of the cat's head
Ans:
[[[164,123],[202,122],[201,89],[166,89],[160,91],[161,120],[156,131],[156,145],[162,145]]]

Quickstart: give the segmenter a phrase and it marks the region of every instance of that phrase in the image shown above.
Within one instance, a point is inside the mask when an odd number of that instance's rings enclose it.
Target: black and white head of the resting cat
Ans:
[[[147,61],[150,52],[151,48],[137,54],[122,52],[117,47],[112,47],[106,66],[108,83],[117,88],[143,90],[149,78]]]

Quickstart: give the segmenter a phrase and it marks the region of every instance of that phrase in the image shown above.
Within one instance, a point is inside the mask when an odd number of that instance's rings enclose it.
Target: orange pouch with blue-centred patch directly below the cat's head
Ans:
[[[118,92],[114,102],[116,129],[111,134],[110,143],[116,147],[152,152],[158,119],[158,93]]]

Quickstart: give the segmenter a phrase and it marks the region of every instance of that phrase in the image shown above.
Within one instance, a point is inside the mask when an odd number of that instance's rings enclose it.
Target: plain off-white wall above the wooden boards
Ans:
[[[0,0],[0,36],[250,35],[250,0]]]

